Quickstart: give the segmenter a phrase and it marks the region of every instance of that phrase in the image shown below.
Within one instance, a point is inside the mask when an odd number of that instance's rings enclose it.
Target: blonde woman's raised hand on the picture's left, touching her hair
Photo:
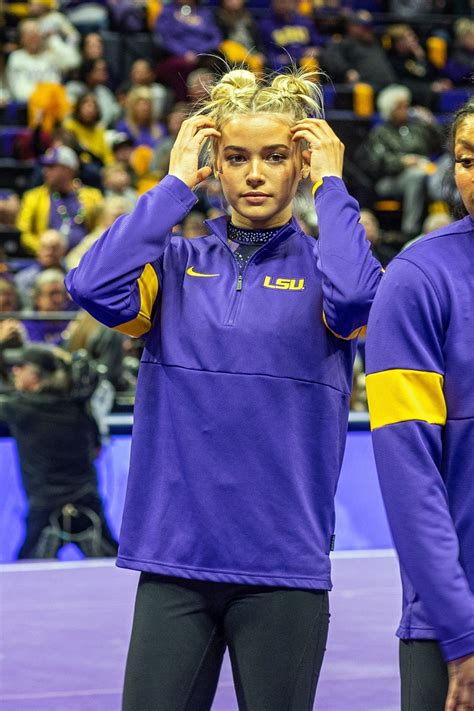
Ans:
[[[183,121],[170,154],[169,175],[174,175],[194,188],[212,173],[212,168],[199,168],[199,153],[207,138],[219,138],[213,119],[208,116],[193,116]]]

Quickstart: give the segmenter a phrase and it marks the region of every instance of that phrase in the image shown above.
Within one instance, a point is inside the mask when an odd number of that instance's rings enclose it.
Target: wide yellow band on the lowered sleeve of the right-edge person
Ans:
[[[366,378],[372,430],[397,422],[446,423],[444,378],[425,370],[383,370]]]

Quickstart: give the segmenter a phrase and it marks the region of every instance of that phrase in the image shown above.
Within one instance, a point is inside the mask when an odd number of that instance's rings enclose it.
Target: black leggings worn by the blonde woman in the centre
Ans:
[[[226,647],[241,711],[310,711],[328,624],[324,590],[142,573],[123,711],[207,711]]]

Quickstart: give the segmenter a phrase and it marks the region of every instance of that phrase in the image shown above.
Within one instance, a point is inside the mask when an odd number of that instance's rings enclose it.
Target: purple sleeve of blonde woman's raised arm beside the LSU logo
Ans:
[[[335,335],[354,337],[367,324],[382,268],[359,222],[359,205],[340,178],[323,179],[316,212],[326,323]]]

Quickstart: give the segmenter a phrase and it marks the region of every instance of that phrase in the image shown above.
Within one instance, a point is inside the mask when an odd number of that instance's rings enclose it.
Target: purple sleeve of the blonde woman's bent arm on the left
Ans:
[[[195,202],[194,193],[171,175],[142,195],[133,212],[119,217],[67,275],[74,301],[106,326],[135,319],[141,274],[161,257],[172,228]]]

